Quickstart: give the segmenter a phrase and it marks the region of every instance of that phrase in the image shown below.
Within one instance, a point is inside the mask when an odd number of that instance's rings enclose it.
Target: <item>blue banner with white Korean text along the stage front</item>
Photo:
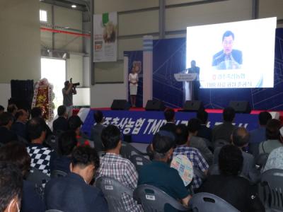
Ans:
[[[82,126],[82,131],[90,135],[91,127],[95,124],[91,110]],[[122,111],[122,110],[103,110],[105,121],[103,125],[114,124],[123,134],[132,135],[132,142],[151,143],[152,137],[161,126],[166,124],[163,112],[156,111]],[[195,112],[176,112],[175,124],[187,124],[188,120],[196,117]],[[213,128],[214,125],[222,123],[222,114],[209,113],[207,126]],[[236,126],[244,126],[246,129],[253,130],[258,128],[258,114],[236,114]]]

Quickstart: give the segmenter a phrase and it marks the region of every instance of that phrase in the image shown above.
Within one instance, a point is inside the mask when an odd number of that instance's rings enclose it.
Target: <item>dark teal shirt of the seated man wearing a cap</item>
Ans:
[[[167,163],[154,160],[148,165],[144,165],[139,170],[139,184],[149,184],[161,189],[174,199],[184,199],[190,193],[185,188],[177,170]],[[174,211],[173,208],[166,208],[165,212]]]

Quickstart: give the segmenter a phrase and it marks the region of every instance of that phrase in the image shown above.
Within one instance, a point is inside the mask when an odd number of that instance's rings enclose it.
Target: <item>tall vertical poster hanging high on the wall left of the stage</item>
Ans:
[[[117,12],[93,16],[93,61],[117,61]]]

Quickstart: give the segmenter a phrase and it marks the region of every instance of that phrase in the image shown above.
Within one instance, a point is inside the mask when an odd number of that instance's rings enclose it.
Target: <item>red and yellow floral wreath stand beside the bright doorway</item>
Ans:
[[[42,78],[35,83],[33,102],[31,107],[40,107],[42,109],[42,117],[51,122],[54,118],[54,100],[53,85],[46,78]]]

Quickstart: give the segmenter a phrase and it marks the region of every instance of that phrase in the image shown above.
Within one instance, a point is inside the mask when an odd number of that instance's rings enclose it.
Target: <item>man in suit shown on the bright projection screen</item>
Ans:
[[[241,69],[243,55],[240,50],[233,49],[234,34],[226,31],[222,36],[223,50],[214,54],[212,66],[218,70],[223,69]]]

